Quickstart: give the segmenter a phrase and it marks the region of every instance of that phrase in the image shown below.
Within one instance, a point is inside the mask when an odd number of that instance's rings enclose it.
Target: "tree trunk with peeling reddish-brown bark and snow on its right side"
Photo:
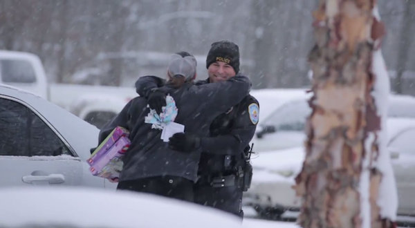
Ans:
[[[386,153],[379,140],[385,114],[379,114],[373,94],[376,80],[385,82],[387,76],[381,79],[372,68],[385,32],[374,8],[376,0],[320,0],[313,12],[316,44],[308,55],[313,111],[295,185],[302,197],[302,227],[395,225],[382,218],[377,204],[383,173],[376,160]],[[384,97],[387,86],[380,92]]]

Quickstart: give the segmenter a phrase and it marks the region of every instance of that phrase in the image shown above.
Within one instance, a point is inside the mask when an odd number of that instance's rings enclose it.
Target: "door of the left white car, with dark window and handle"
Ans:
[[[0,97],[0,187],[81,184],[80,158],[42,118],[24,102]]]

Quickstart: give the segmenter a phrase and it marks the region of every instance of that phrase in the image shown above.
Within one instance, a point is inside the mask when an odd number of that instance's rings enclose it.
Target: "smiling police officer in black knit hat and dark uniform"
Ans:
[[[237,44],[230,41],[213,43],[206,59],[206,67],[209,78],[196,85],[222,82],[237,75]],[[136,82],[136,88],[138,93],[145,94],[145,91],[161,84],[163,82],[154,77],[142,77]],[[242,193],[248,189],[252,177],[248,144],[255,133],[258,120],[257,99],[247,95],[239,104],[216,117],[210,125],[209,137],[190,133],[173,135],[169,142],[170,148],[178,151],[201,148],[203,151],[199,162],[199,179],[194,184],[194,202],[243,217]]]

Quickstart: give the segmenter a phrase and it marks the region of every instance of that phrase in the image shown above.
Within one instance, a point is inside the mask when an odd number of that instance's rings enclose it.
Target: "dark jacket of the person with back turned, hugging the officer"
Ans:
[[[233,77],[225,82],[195,86],[186,83],[178,89],[164,86],[178,108],[176,120],[185,125],[185,132],[208,136],[214,117],[246,97],[250,90],[247,77]],[[131,145],[124,156],[120,181],[160,175],[175,175],[196,181],[201,151],[183,153],[168,148],[160,140],[161,131],[144,122],[149,113],[147,99],[136,97],[100,132],[100,142],[116,127],[129,129]]]

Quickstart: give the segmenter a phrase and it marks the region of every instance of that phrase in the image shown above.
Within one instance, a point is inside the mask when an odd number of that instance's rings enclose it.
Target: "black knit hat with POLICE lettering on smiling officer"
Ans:
[[[235,73],[239,72],[239,47],[237,44],[222,40],[217,41],[210,47],[208,57],[206,58],[206,68],[215,61],[223,61],[234,68]]]

